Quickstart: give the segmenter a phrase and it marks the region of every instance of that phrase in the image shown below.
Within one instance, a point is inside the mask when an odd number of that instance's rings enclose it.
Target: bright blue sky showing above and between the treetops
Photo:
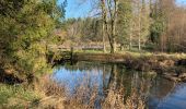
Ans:
[[[62,2],[63,0],[59,0]],[[94,1],[94,0],[93,0]],[[91,15],[93,3],[90,0],[67,0],[66,19],[85,17]],[[177,4],[186,4],[186,0],[176,0]]]

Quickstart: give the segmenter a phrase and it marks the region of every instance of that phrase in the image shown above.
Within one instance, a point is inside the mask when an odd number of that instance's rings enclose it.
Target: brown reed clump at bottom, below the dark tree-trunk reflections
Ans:
[[[107,97],[102,102],[102,109],[144,109],[144,100],[136,88],[131,89],[131,94],[127,99],[125,99],[124,88],[109,89]]]

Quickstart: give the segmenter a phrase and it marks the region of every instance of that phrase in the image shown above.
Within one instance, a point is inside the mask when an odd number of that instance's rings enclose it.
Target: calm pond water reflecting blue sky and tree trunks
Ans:
[[[142,95],[147,96],[149,109],[186,109],[186,83],[176,84],[154,73],[129,71],[121,64],[65,64],[56,66],[53,78],[60,82],[69,94],[82,85],[90,92],[96,86],[101,98],[111,86],[125,87],[125,95],[128,96],[132,87],[139,88],[142,84]]]

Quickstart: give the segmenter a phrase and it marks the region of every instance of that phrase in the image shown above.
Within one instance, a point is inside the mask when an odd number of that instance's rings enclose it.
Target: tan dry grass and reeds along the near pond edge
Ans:
[[[45,97],[39,100],[38,109],[96,109],[98,92],[97,87],[89,88],[88,85],[81,85],[75,88],[72,95],[69,95],[65,86],[44,77],[39,85],[36,85],[36,92],[44,94]],[[105,94],[105,98],[98,99],[101,109],[144,109],[144,99],[137,89],[132,89],[131,95],[125,99],[124,88],[113,89],[112,87]]]

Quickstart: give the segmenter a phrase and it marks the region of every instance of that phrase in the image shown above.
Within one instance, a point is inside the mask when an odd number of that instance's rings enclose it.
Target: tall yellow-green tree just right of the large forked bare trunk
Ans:
[[[117,41],[120,45],[126,45],[129,43],[129,48],[131,48],[132,24],[132,2],[130,0],[119,1],[117,20]]]

